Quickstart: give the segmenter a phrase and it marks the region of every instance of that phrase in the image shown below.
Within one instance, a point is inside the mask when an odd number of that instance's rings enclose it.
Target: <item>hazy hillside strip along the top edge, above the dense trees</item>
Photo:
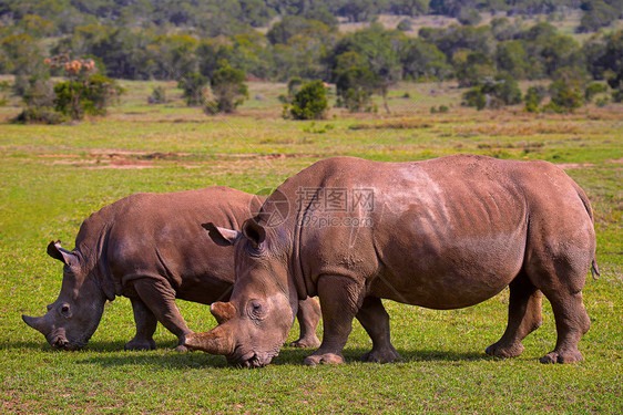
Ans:
[[[0,19],[20,21],[39,15],[53,23],[51,34],[71,34],[78,27],[104,24],[193,30],[202,37],[232,35],[266,27],[273,18],[300,15],[335,25],[338,18],[371,21],[381,13],[443,14],[464,22],[479,12],[513,14],[584,11],[580,30],[607,25],[623,13],[621,0],[2,0]],[[162,32],[161,32],[162,33]]]

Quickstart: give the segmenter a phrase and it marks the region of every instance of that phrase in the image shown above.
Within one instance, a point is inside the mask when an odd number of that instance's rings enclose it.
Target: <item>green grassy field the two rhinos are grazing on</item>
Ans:
[[[623,412],[623,106],[570,115],[476,112],[458,105],[460,92],[449,84],[404,84],[390,94],[391,114],[331,110],[326,121],[292,122],[279,117],[284,85],[252,84],[239,114],[212,118],[184,107],[173,84],[172,101],[157,106],[146,104],[153,83],[125,86],[122,105],[103,120],[0,125],[2,413]],[[431,114],[440,104],[450,111]],[[2,107],[0,118],[18,112]],[[305,367],[309,351],[284,347],[267,367],[238,370],[221,356],[174,352],[176,340],[162,326],[159,350],[124,352],[134,335],[125,298],[106,304],[79,352],[52,350],[21,321],[22,313],[42,314],[60,290],[62,270],[47,243],[72,248],[81,221],[123,196],[212,185],[253,193],[333,155],[415,160],[453,153],[560,163],[586,190],[602,276],[584,289],[592,320],[580,343],[585,362],[538,362],[555,343],[547,301],[544,323],[525,339],[521,357],[487,356],[505,328],[508,291],[455,311],[387,302],[405,360],[385,365],[358,362],[371,344],[357,322],[346,365]],[[215,325],[206,307],[180,308],[193,330]]]

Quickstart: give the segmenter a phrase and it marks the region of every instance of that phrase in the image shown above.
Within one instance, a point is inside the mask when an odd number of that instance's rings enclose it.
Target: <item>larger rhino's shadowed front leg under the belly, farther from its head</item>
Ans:
[[[356,317],[372,340],[372,350],[361,356],[364,362],[388,363],[401,359],[391,345],[389,315],[379,298],[366,298]]]

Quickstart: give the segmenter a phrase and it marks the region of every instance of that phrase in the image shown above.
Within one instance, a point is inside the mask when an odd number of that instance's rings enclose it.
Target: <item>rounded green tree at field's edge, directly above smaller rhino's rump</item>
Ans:
[[[237,69],[233,69],[224,61],[221,68],[214,71],[210,85],[214,101],[205,106],[208,114],[233,113],[248,97],[248,90],[244,83],[246,74]]]

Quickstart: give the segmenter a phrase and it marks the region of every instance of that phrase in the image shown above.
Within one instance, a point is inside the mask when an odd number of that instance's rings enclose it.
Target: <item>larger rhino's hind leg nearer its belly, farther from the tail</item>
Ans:
[[[487,347],[496,357],[515,357],[523,352],[521,341],[537,330],[542,321],[543,293],[534,287],[524,272],[510,283],[509,323],[502,338]]]

